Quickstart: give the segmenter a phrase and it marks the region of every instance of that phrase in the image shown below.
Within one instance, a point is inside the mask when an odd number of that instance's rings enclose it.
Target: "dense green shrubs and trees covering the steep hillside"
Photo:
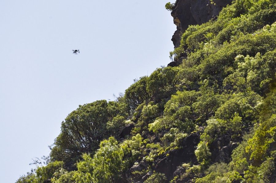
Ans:
[[[80,105],[62,122],[50,161],[17,183],[133,182],[149,171],[145,182],[272,182],[275,21],[275,0],[236,0],[217,20],[190,26],[170,53],[175,60],[188,54],[180,66],[157,68],[117,101]],[[120,137],[131,123],[131,133]],[[157,159],[197,132],[197,163],[184,163],[172,180],[153,171]],[[231,160],[212,162],[212,143],[226,136],[237,144]],[[147,169],[130,172],[140,160]]]

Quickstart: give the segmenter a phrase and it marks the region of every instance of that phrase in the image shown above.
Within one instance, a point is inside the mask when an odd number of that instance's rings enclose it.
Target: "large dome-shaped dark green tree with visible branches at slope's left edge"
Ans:
[[[51,151],[52,160],[61,160],[70,165],[82,153],[95,151],[99,142],[110,135],[107,133],[107,123],[114,123],[112,129],[109,125],[109,130],[116,134],[123,125],[122,118],[126,119],[127,116],[127,106],[121,102],[102,100],[80,105],[61,123],[61,133]]]

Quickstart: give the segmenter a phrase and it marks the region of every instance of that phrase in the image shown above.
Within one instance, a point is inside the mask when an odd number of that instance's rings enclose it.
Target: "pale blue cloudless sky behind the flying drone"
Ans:
[[[15,182],[33,157],[48,155],[79,104],[113,100],[170,62],[176,27],[167,2],[1,2],[0,182]]]

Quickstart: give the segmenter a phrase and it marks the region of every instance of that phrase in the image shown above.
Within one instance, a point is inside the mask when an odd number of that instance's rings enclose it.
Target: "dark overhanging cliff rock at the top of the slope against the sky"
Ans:
[[[172,42],[174,48],[180,45],[181,35],[189,25],[197,25],[216,18],[221,9],[230,4],[232,0],[176,0],[171,12],[177,30],[174,32]]]

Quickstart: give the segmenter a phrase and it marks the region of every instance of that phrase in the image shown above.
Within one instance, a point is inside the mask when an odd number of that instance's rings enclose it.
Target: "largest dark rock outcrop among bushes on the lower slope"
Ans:
[[[178,166],[182,165],[182,163],[191,162],[196,164],[197,159],[194,151],[197,148],[199,141],[200,133],[189,135],[182,142],[183,148],[174,149],[165,153],[168,155],[156,161],[154,170],[156,172],[165,174],[167,179],[170,180],[173,178],[174,173],[177,174],[175,170]]]

